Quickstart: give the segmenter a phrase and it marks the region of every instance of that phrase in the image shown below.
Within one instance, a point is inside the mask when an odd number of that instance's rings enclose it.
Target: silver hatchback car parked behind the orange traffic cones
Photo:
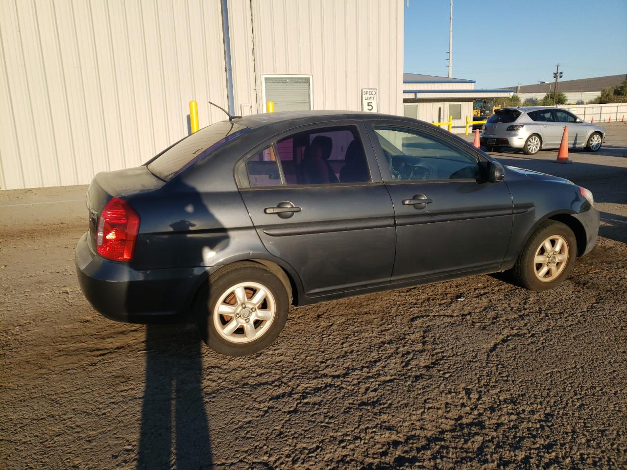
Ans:
[[[488,152],[513,147],[533,155],[540,149],[558,149],[566,126],[571,149],[585,147],[589,152],[601,149],[605,138],[603,127],[583,122],[571,112],[553,107],[497,109],[483,125],[480,141]]]

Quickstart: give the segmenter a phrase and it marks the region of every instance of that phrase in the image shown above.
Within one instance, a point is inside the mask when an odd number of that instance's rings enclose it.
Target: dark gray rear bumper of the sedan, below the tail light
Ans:
[[[76,246],[78,283],[93,308],[129,323],[187,320],[194,293],[207,268],[137,270],[108,261],[88,246],[88,233]]]

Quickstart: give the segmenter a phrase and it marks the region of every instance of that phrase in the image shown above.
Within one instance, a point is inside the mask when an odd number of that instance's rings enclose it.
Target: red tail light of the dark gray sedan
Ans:
[[[139,216],[123,199],[113,197],[100,214],[96,249],[100,256],[115,261],[133,259]]]

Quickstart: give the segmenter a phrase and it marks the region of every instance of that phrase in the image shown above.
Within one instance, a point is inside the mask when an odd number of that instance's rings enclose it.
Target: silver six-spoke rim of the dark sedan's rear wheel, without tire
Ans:
[[[270,289],[245,282],[222,293],[213,309],[213,322],[225,340],[250,343],[268,331],[276,313],[277,303]]]

